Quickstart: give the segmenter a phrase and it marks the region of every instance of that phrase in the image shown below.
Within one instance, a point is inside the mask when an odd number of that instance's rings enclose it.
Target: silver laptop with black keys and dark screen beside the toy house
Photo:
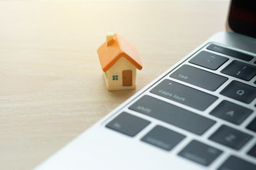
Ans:
[[[256,3],[35,169],[256,169]]]

